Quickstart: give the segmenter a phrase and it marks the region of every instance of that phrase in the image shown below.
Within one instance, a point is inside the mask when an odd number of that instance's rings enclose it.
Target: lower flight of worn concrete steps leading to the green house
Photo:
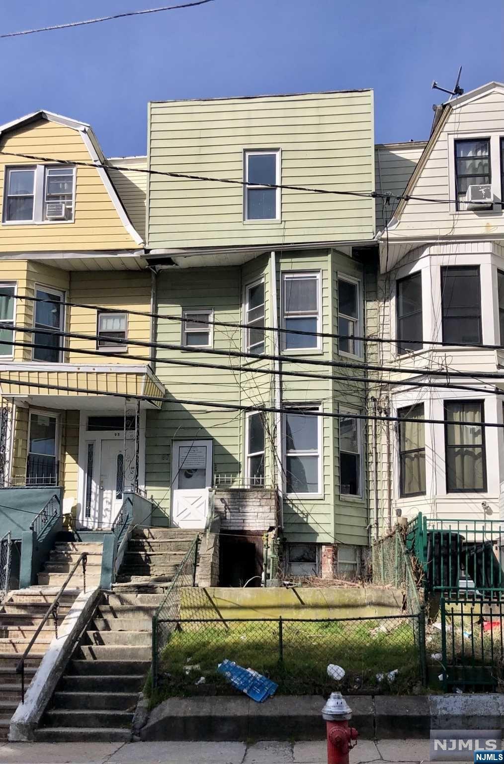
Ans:
[[[152,616],[164,593],[144,585],[105,592],[73,652],[36,740],[128,741],[151,661]]]

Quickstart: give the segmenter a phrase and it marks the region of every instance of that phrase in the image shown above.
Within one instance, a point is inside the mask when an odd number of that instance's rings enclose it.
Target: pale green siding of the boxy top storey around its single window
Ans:
[[[374,188],[373,92],[273,95],[150,104],[153,170],[243,180],[244,149],[281,149],[281,182]],[[374,202],[283,189],[280,222],[243,220],[241,185],[150,176],[151,247],[362,240]]]

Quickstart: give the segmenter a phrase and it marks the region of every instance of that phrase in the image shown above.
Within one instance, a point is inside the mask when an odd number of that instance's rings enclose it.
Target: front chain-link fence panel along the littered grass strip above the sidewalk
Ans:
[[[425,641],[418,642],[418,615],[338,619],[159,620],[167,635],[157,666],[157,701],[201,694],[232,694],[217,672],[229,659],[279,685],[279,694],[325,694],[334,690],[331,663],[345,676],[346,693],[408,693],[425,678]]]

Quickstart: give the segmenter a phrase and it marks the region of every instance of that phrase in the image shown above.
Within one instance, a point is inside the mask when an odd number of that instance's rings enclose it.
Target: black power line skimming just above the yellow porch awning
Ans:
[[[33,330],[27,330],[32,332]],[[37,332],[39,334],[44,334],[44,332]],[[98,338],[98,335],[97,335]],[[110,338],[112,340],[112,338]],[[117,338],[115,338],[117,339]],[[41,348],[43,350],[54,350],[54,345],[44,345],[44,343],[40,342],[21,342],[19,340],[4,340],[2,339],[2,342],[0,343],[2,345],[9,345],[15,348]],[[213,371],[228,371],[230,373],[233,373],[234,371],[244,371],[247,374],[271,374],[276,375],[279,377],[300,377],[302,379],[309,379],[309,380],[331,380],[336,382],[355,382],[357,384],[390,384],[395,385],[396,387],[430,387],[435,388],[439,390],[464,390],[469,391],[472,393],[493,393],[495,395],[504,395],[504,390],[499,390],[498,387],[491,387],[489,390],[483,390],[481,387],[473,387],[471,385],[457,385],[457,384],[451,384],[449,382],[415,382],[414,380],[383,380],[380,378],[380,380],[372,379],[370,377],[354,377],[347,374],[310,374],[310,372],[305,371],[286,371],[279,369],[271,369],[271,368],[263,368],[263,367],[251,367],[250,365],[236,365],[236,366],[228,366],[226,364],[203,364],[199,363],[198,361],[181,361],[179,359],[175,358],[158,358],[156,355],[132,355],[130,353],[124,354],[120,351],[114,352],[114,351],[102,351],[102,350],[88,350],[86,348],[64,348],[64,352],[69,353],[76,353],[81,355],[91,355],[93,358],[96,358],[96,356],[99,356],[100,358],[118,358],[123,360],[124,358],[131,358],[132,361],[155,361],[158,364],[166,364],[169,366],[182,366],[187,368],[195,368],[195,369],[212,369]],[[0,357],[1,358],[1,357]],[[1,362],[1,361],[0,361]],[[23,361],[19,361],[19,363],[23,363]],[[82,371],[82,373],[85,373]],[[221,387],[221,383],[205,383],[200,381],[192,381],[187,382],[186,380],[183,381],[183,384],[212,384],[218,387]],[[230,383],[231,384],[231,383]],[[239,383],[235,383],[239,387]],[[489,385],[489,382],[483,382],[481,381],[481,384],[487,384]],[[363,392],[363,390],[358,390],[356,392]]]

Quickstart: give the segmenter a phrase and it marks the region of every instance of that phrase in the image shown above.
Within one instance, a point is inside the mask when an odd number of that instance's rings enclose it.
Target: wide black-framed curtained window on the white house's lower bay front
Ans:
[[[483,400],[444,401],[446,490],[486,490]],[[458,422],[469,422],[459,424]]]

